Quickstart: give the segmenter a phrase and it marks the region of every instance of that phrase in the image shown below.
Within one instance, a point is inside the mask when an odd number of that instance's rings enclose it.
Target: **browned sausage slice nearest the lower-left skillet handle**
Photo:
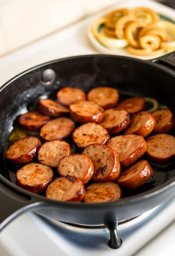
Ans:
[[[54,179],[54,173],[47,165],[31,163],[16,172],[16,185],[33,193],[41,193]]]

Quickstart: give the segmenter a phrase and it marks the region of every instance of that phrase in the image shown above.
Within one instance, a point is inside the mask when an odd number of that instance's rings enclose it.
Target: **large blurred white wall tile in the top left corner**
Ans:
[[[15,0],[0,6],[0,17],[9,51],[48,34],[42,0]]]

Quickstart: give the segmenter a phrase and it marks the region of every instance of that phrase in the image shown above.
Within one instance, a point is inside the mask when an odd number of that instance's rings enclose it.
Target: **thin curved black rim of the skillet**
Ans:
[[[53,64],[53,63],[61,62],[61,61],[66,61],[66,60],[70,60],[70,59],[79,59],[79,58],[81,59],[81,58],[92,58],[92,57],[100,57],[100,58],[101,57],[112,57],[112,58],[120,58],[120,59],[126,59],[126,60],[129,59],[131,61],[142,62],[144,64],[154,66],[157,69],[161,69],[164,72],[169,73],[171,76],[175,77],[175,73],[171,69],[168,69],[166,67],[154,64],[155,59],[149,59],[149,60],[145,61],[145,60],[142,60],[142,59],[131,58],[131,57],[127,57],[127,56],[120,56],[120,55],[110,55],[110,54],[89,54],[89,55],[77,55],[77,56],[75,55],[75,56],[65,57],[65,58],[61,58],[61,59],[55,59],[55,60],[52,60],[52,61],[49,61],[49,62],[44,62],[44,63],[41,63],[37,66],[34,66],[30,69],[27,69],[27,70],[19,73],[18,75],[12,77],[10,80],[8,80],[5,84],[3,84],[0,87],[0,93],[5,87],[9,86],[13,81],[15,81],[16,79],[18,79],[19,77],[21,77],[21,76],[23,76],[27,73],[30,73],[31,71],[33,71],[35,69],[47,66],[49,64]],[[156,59],[158,59],[158,58],[156,58]],[[171,180],[173,180],[173,181],[171,181]],[[161,193],[163,193],[163,191],[168,190],[169,188],[175,186],[175,178],[174,179],[171,178],[170,180],[167,180],[165,183],[163,183],[163,184],[161,184],[161,185],[159,185],[155,188],[152,188],[150,190],[147,190],[147,191],[139,193],[139,194],[124,197],[124,198],[122,198],[120,200],[117,200],[117,201],[98,203],[98,204],[93,204],[93,203],[85,204],[85,203],[75,203],[75,202],[66,202],[66,201],[56,201],[56,200],[48,199],[47,197],[44,197],[44,196],[39,195],[39,194],[34,194],[34,193],[32,193],[28,190],[25,190],[25,189],[17,186],[16,184],[12,183],[11,181],[9,181],[7,178],[5,178],[0,173],[0,182],[1,181],[3,183],[5,183],[5,185],[8,185],[8,187],[12,188],[13,190],[19,191],[19,193],[22,194],[23,196],[24,196],[24,194],[26,196],[30,196],[31,197],[30,200],[32,200],[34,198],[35,200],[38,199],[37,200],[38,202],[44,201],[46,203],[57,204],[57,205],[59,204],[60,206],[65,206],[65,207],[74,206],[75,208],[93,208],[93,209],[103,208],[104,206],[115,207],[117,205],[131,204],[131,203],[141,201],[143,199],[148,199],[150,197],[161,194]],[[139,195],[139,196],[137,196],[137,195]],[[30,200],[28,201],[28,203],[26,202],[26,204],[30,204]]]

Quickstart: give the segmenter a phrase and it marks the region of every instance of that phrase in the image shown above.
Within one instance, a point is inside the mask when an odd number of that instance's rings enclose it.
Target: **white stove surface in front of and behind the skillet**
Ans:
[[[138,5],[126,0],[115,7]],[[171,18],[175,11],[150,0],[140,0]],[[87,40],[89,17],[55,34],[0,59],[0,86],[12,76],[42,62],[71,55],[96,54]],[[27,213],[13,221],[0,234],[0,256],[147,256],[175,255],[175,197],[135,219],[121,222],[118,233],[123,244],[108,247],[109,231],[100,227],[72,226]]]

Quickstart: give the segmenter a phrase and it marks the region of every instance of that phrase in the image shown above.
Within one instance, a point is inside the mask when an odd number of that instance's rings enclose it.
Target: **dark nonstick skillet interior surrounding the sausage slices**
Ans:
[[[51,69],[51,72],[47,77],[48,69]],[[52,79],[53,83],[51,81],[49,84],[48,80]],[[14,167],[5,160],[4,152],[10,145],[7,137],[16,126],[18,116],[27,110],[36,109],[39,98],[55,98],[56,92],[65,86],[81,88],[85,92],[96,86],[111,86],[119,90],[120,100],[131,96],[152,97],[175,112],[174,77],[163,69],[158,69],[156,64],[148,65],[143,61],[124,57],[94,55],[58,60],[34,68],[12,80],[11,84],[0,92],[1,160],[3,158],[0,172],[12,183],[15,183],[15,173],[19,167]],[[72,151],[76,152],[73,145]],[[145,159],[145,156],[142,159]],[[167,181],[175,180],[174,163],[165,166],[152,163],[151,165],[155,171],[152,180],[132,192],[123,190],[124,196],[139,196],[145,191],[149,193],[150,189],[159,188]],[[58,176],[56,171],[55,176]]]

